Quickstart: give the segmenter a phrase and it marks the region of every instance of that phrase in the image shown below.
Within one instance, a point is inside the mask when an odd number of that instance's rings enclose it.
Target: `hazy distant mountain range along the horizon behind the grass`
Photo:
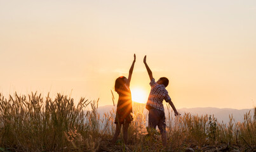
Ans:
[[[136,106],[133,106],[133,109],[135,109],[138,106],[141,106],[144,108],[144,114],[147,115],[147,110],[145,109],[145,104],[141,103],[135,103]],[[98,107],[98,113],[100,114],[100,117],[104,115],[104,113],[110,112],[114,106],[107,105],[107,106],[100,106]],[[172,110],[172,108],[170,108]],[[166,117],[168,115],[167,108],[165,107],[165,114]],[[212,107],[206,107],[206,108],[181,108],[178,110],[181,115],[184,115],[184,113],[190,113],[191,115],[214,115],[215,118],[217,118],[218,122],[223,122],[224,124],[228,123],[230,121],[229,116],[232,115],[232,120],[234,122],[243,122],[243,118],[245,113],[248,113],[250,111],[250,115],[253,118],[254,115],[254,109],[243,109],[243,110],[236,110],[231,108],[212,108]],[[173,114],[174,115],[174,114]]]

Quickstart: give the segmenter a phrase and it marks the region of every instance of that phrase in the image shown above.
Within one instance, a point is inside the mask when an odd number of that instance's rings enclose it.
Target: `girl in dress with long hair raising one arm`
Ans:
[[[131,105],[131,91],[130,91],[130,81],[131,75],[133,72],[134,63],[136,61],[136,55],[134,54],[134,60],[131,64],[131,68],[129,70],[128,79],[126,77],[121,76],[116,79],[115,83],[115,91],[118,92],[118,106],[116,108],[116,132],[112,139],[112,144],[116,143],[118,139],[118,135],[120,134],[121,126],[123,125],[123,139],[125,144],[127,143],[128,137],[128,128],[133,120],[131,113],[132,113],[132,105]]]

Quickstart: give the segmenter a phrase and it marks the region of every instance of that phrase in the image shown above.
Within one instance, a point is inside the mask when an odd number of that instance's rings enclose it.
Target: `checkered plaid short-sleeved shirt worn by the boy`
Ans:
[[[163,99],[165,99],[166,102],[172,101],[168,95],[168,91],[165,89],[165,85],[156,83],[154,78],[149,84],[151,85],[151,92],[149,94],[149,99],[147,100],[146,108],[152,107],[161,111],[165,111],[163,108]]]

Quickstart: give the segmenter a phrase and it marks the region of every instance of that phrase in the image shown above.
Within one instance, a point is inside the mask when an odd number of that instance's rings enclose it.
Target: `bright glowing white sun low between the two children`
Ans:
[[[137,103],[147,103],[147,94],[140,87],[131,88],[131,99]]]

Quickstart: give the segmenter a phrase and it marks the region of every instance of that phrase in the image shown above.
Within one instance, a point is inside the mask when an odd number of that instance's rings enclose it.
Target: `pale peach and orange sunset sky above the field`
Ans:
[[[178,109],[253,108],[255,27],[255,0],[0,0],[0,92],[112,105],[114,81],[128,77],[135,53],[132,91],[149,94],[147,55]]]

